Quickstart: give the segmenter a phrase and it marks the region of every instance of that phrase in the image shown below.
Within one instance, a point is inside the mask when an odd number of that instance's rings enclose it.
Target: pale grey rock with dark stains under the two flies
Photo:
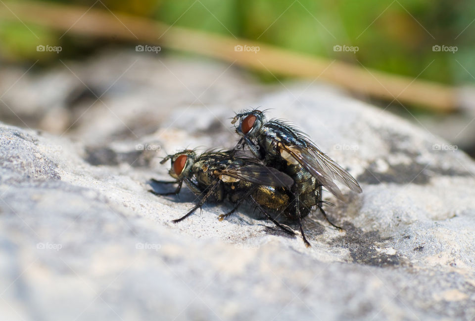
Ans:
[[[322,84],[137,54],[74,67],[27,75],[3,99],[21,118],[14,95],[28,93],[29,115],[57,79],[65,91],[42,101],[67,116],[56,135],[0,125],[2,320],[475,317],[475,164],[453,146]],[[78,82],[110,89],[71,108]],[[190,191],[147,192],[168,179],[165,151],[232,147],[229,118],[249,106],[295,122],[357,178],[348,202],[325,195],[344,232],[312,214],[306,248],[247,208],[219,222],[229,204],[173,224]],[[29,125],[50,121],[34,110]]]

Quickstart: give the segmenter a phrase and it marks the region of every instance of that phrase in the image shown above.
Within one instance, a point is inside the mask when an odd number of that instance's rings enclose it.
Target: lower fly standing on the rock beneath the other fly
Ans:
[[[289,205],[287,191],[293,184],[292,178],[275,168],[233,154],[234,151],[225,151],[207,152],[197,156],[192,150],[184,150],[168,155],[160,163],[171,160],[169,174],[176,181],[151,181],[159,184],[177,183],[177,189],[169,193],[156,193],[152,190],[149,192],[155,195],[176,195],[180,193],[185,182],[200,198],[187,214],[173,220],[175,223],[190,216],[208,200],[228,200],[234,204],[230,212],[218,217],[220,221],[234,213],[242,201],[249,201],[279,228],[294,235],[268,213],[283,211]]]

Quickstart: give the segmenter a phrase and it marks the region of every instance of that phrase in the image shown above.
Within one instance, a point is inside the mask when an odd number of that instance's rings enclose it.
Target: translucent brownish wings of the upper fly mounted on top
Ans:
[[[316,146],[306,141],[307,147],[280,144],[281,149],[290,154],[300,165],[306,168],[322,185],[338,199],[344,199],[334,181],[338,181],[352,191],[361,193],[356,180],[335,161],[322,153]]]

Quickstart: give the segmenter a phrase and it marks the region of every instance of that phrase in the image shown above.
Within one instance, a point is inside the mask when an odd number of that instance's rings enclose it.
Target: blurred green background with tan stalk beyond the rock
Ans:
[[[145,51],[231,63],[262,84],[328,82],[474,156],[474,33],[469,0],[1,0],[0,117],[72,130],[74,115],[59,105],[103,91],[79,75],[91,57]],[[50,103],[68,83],[48,82],[58,69],[82,83]],[[47,94],[54,99],[35,105]]]

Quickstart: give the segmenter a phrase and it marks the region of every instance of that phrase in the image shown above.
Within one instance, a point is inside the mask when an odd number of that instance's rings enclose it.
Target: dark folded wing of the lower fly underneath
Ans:
[[[217,174],[227,175],[265,186],[281,186],[290,188],[293,185],[293,179],[287,174],[273,167],[259,164],[243,165],[236,168],[225,168],[219,170]]]

